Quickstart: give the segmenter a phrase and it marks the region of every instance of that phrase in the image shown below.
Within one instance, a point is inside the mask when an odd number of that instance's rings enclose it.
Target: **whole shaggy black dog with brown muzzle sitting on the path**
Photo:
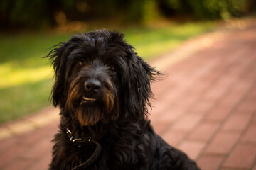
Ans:
[[[52,100],[60,107],[50,169],[198,169],[146,119],[150,83],[160,74],[123,35],[74,35],[55,46]]]

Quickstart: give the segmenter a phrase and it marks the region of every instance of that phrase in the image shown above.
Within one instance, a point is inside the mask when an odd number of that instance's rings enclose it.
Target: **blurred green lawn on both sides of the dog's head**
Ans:
[[[139,56],[149,60],[211,28],[213,23],[186,23],[120,30]],[[1,35],[0,123],[21,118],[49,105],[53,74],[50,62],[42,57],[50,47],[68,40],[70,35]]]

